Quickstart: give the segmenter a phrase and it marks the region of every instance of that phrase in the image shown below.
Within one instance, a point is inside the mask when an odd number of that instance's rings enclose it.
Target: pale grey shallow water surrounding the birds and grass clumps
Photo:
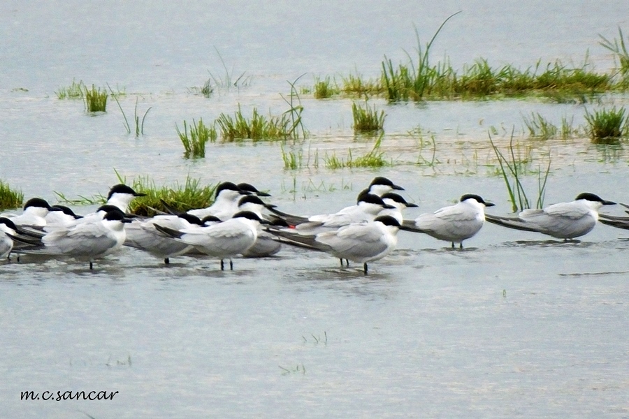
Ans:
[[[287,109],[287,80],[379,73],[386,54],[404,59],[447,15],[463,10],[435,42],[454,66],[530,66],[537,59],[613,66],[598,34],[626,25],[623,1],[512,6],[498,1],[281,3],[137,1],[0,6],[0,179],[55,202],[106,193],[114,169],[156,184],[187,175],[252,182],[281,210],[328,212],[349,205],[376,174],[405,186],[420,212],[479,193],[510,211],[487,133],[506,145],[522,115],[558,124],[583,105],[538,101],[386,105],[382,150],[396,165],[327,170],[328,153],[368,150],[354,138],[349,99],[302,97],[308,168],[284,170],[278,144],[209,145],[182,159],[175,124],[257,107]],[[625,31],[626,32],[626,31]],[[224,77],[215,50],[251,85],[209,99],[192,94],[208,71]],[[233,68],[233,70],[232,70]],[[115,103],[86,115],[55,90],[73,80],[125,88],[127,117],[152,107],[145,135],[126,135]],[[299,84],[298,84],[299,85]],[[24,91],[22,89],[27,89]],[[137,94],[137,96],[136,96]],[[602,98],[626,104],[626,96]],[[595,106],[595,105],[592,105]],[[421,126],[423,134],[408,131]],[[436,164],[431,145],[435,137]],[[546,203],[581,191],[626,202],[624,147],[584,138],[530,142],[534,163],[552,171]],[[523,148],[522,153],[526,154]],[[354,154],[356,155],[356,154]],[[422,160],[424,159],[424,160]],[[417,165],[424,161],[423,165]],[[537,162],[540,162],[538,165]],[[529,191],[537,176],[527,175]],[[78,207],[88,212],[92,207]],[[607,210],[621,214],[621,208]],[[0,265],[1,416],[196,417],[629,417],[627,318],[629,233],[597,226],[579,243],[488,225],[463,250],[400,233],[398,249],[370,264],[301,249],[234,261],[233,272],[203,258],[169,267],[133,249],[96,263]],[[110,401],[20,401],[33,390],[118,391]]]

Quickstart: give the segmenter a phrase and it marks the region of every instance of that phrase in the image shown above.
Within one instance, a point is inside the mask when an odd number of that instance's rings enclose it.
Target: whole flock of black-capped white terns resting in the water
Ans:
[[[478,233],[484,221],[563,240],[585,235],[597,221],[629,229],[629,216],[599,214],[602,205],[614,203],[593,193],[509,217],[485,214],[485,208],[494,204],[465,194],[455,205],[408,220],[403,219],[403,210],[417,205],[396,192],[403,190],[386,177],[375,177],[359,193],[355,205],[310,216],[277,210],[261,199],[270,196],[268,193],[251,184],[232,182],[217,186],[210,207],[178,212],[164,203],[169,213],[150,218],[128,213],[131,200],[144,194],[124,184],[110,189],[106,205],[83,216],[63,205],[31,198],[21,214],[0,214],[0,258],[8,259],[12,252],[75,258],[88,261],[92,269],[94,260],[126,245],[164,263],[175,256],[203,254],[220,260],[223,270],[224,260],[229,260],[233,269],[235,256],[272,256],[285,244],[330,253],[341,266],[343,260],[347,265],[349,260],[361,263],[367,274],[368,263],[396,248],[399,230],[424,233],[462,248],[463,241]]]

